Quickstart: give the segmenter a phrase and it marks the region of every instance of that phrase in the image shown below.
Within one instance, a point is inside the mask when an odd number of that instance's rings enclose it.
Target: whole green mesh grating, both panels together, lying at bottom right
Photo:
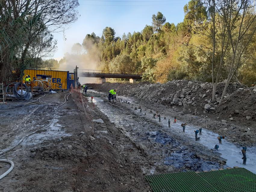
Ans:
[[[244,168],[145,176],[154,192],[255,192],[256,175]]]

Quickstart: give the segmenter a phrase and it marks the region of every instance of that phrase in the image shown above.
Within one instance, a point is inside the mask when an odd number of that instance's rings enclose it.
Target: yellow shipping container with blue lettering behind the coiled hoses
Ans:
[[[24,74],[23,79],[28,75],[31,78],[31,81],[36,78],[36,75],[51,75],[53,84],[59,86],[59,83],[62,83],[62,88],[67,89],[67,71],[26,69],[24,70]],[[56,86],[53,86],[52,88],[58,89]]]

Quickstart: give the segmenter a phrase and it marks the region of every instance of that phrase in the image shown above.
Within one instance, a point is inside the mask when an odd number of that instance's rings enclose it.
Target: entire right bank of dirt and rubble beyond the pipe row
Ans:
[[[169,113],[177,119],[226,136],[230,142],[256,146],[256,88],[231,83],[224,100],[224,82],[218,83],[216,99],[211,101],[211,83],[175,80],[165,84],[91,84],[101,92],[117,88],[117,94],[132,97],[149,109]],[[220,103],[220,104],[219,104]]]

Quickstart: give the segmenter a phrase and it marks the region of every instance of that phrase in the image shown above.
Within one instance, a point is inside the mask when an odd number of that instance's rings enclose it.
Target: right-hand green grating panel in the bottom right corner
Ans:
[[[224,169],[220,171],[201,172],[204,181],[222,192],[255,192],[256,175],[245,168]]]

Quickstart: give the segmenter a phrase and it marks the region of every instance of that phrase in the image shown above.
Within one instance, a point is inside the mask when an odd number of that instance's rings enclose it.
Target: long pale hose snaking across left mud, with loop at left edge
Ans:
[[[65,100],[65,101],[64,101],[62,104],[60,104],[58,107],[55,108],[55,113],[54,113],[54,115],[53,115],[53,118],[52,118],[52,120],[50,121],[50,123],[49,123],[48,125],[46,125],[46,126],[40,128],[40,129],[37,129],[36,131],[34,131],[34,132],[32,132],[32,133],[29,133],[29,134],[25,135],[25,136],[24,136],[23,138],[21,138],[20,141],[19,141],[17,144],[15,144],[13,147],[11,147],[10,149],[7,149],[7,150],[4,150],[4,151],[0,152],[0,157],[3,156],[3,155],[5,155],[5,153],[8,153],[9,151],[13,150],[15,147],[17,147],[17,146],[18,146],[25,138],[27,138],[28,136],[33,135],[33,134],[35,134],[36,132],[38,132],[38,131],[40,131],[40,130],[43,130],[43,129],[45,129],[45,128],[48,128],[48,127],[52,124],[52,122],[53,122],[53,120],[54,120],[54,118],[55,118],[57,109],[66,103],[66,101],[67,101],[67,99],[68,99],[68,96],[69,96],[70,94],[71,94],[71,93],[68,92],[67,94],[64,95],[64,100]],[[67,95],[67,99],[66,99],[66,95]],[[11,160],[8,160],[8,159],[0,159],[0,162],[7,162],[7,163],[10,163],[10,164],[11,164],[10,169],[8,169],[8,171],[5,172],[4,174],[0,175],[0,180],[1,180],[1,179],[4,178],[8,173],[11,172],[11,170],[14,168],[14,163],[13,163]]]

